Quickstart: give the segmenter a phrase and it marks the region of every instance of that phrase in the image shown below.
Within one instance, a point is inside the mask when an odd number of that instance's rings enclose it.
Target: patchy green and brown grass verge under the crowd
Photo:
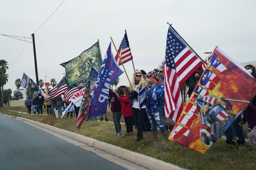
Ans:
[[[86,121],[83,123],[81,130],[77,131],[75,119],[57,119],[47,115],[19,114],[8,110],[26,112],[25,107],[4,107],[0,109],[0,112],[29,118],[57,128],[79,133],[190,170],[253,170],[256,167],[256,150],[240,150],[237,145],[227,145],[223,139],[218,140],[205,154],[200,154],[180,144],[165,142],[161,134],[158,135],[160,140],[157,143],[153,142],[151,132],[145,132],[145,139],[140,142],[136,142],[135,136],[126,137],[122,135],[114,137],[114,125],[105,121]],[[108,113],[107,117],[111,120],[111,113]],[[125,131],[124,125],[122,125],[122,130]]]

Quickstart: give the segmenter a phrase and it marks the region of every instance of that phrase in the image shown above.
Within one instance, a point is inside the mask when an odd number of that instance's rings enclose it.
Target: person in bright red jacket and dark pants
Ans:
[[[124,88],[124,95],[125,97],[118,96],[118,100],[122,105],[122,115],[125,118],[125,125],[126,125],[126,136],[132,136],[133,133],[133,114],[130,108],[130,101],[131,99],[128,98],[129,88]]]

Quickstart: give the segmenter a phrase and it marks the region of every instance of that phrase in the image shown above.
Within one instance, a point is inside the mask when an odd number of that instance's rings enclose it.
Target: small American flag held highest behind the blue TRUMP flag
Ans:
[[[122,59],[123,64],[132,60],[132,55],[131,55],[131,50],[130,50],[130,46],[129,46],[127,33],[125,33],[125,36],[119,46],[118,53],[114,57],[116,63],[118,63],[118,65],[122,65],[118,54],[120,55],[120,58]]]

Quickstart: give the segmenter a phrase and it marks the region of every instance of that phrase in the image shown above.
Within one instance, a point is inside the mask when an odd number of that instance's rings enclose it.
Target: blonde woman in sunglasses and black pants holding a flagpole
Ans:
[[[146,105],[140,108],[139,95],[138,92],[145,86],[144,78],[142,77],[142,72],[140,70],[135,70],[131,79],[131,86],[129,87],[130,94],[128,97],[131,99],[131,109],[133,113],[134,123],[137,129],[137,141],[143,139],[143,122],[144,116],[147,115]]]

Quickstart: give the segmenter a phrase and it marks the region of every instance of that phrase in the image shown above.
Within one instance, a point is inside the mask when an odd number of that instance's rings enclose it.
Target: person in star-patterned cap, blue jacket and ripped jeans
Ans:
[[[155,68],[152,73],[149,74],[149,78],[153,83],[153,87],[149,89],[147,94],[147,115],[151,123],[151,130],[153,133],[153,139],[158,140],[157,127],[160,129],[164,136],[164,140],[167,141],[167,130],[163,124],[162,116],[164,111],[164,84],[158,81],[159,70]]]

